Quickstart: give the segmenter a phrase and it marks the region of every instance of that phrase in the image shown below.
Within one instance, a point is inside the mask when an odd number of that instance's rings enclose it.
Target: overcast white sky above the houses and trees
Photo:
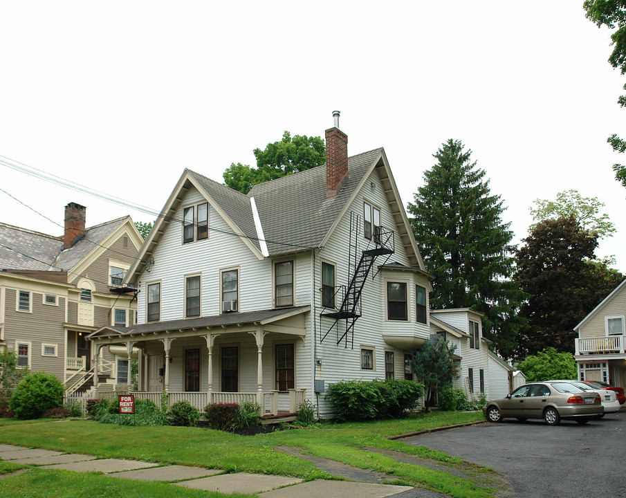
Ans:
[[[216,181],[252,149],[324,136],[385,147],[403,203],[448,138],[501,195],[516,241],[533,200],[576,189],[617,228],[599,256],[626,272],[626,77],[582,0],[0,3],[0,155],[155,211],[188,167]],[[3,158],[0,158],[3,159]],[[154,216],[0,164],[0,221],[59,235]],[[419,241],[418,241],[419,242]]]

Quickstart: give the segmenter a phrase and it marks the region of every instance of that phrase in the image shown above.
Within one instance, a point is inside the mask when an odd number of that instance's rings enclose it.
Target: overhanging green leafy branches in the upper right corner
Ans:
[[[609,64],[619,68],[626,74],[626,0],[585,0],[582,4],[587,11],[587,19],[601,28],[607,26],[611,30],[611,45],[614,47],[609,57]],[[626,84],[624,85],[626,90]],[[617,100],[620,107],[626,106],[626,95],[620,95]],[[615,133],[607,138],[613,150],[623,154],[626,152],[626,140],[619,138]],[[614,164],[615,178],[626,187],[626,166]]]

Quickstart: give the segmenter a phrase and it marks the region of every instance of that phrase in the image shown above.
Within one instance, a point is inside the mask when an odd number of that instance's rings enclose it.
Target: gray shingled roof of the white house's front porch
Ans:
[[[105,326],[98,331],[95,331],[90,337],[97,337],[100,335],[100,331],[116,331],[120,335],[132,336],[141,335],[142,333],[154,333],[165,332],[184,329],[202,329],[204,327],[220,327],[237,324],[250,324],[255,322],[262,322],[270,318],[277,318],[281,315],[291,315],[295,313],[303,313],[308,311],[311,307],[307,306],[293,306],[291,308],[278,308],[261,311],[248,311],[246,313],[224,313],[223,315],[213,315],[200,318],[185,318],[184,320],[169,320],[167,322],[149,322],[146,324],[139,324],[130,327],[113,327]]]

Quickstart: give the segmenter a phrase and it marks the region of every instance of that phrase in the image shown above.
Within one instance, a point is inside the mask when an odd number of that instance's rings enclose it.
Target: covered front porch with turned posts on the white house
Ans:
[[[295,413],[306,398],[297,385],[309,306],[250,313],[225,313],[128,328],[102,327],[89,336],[95,369],[100,349],[125,346],[129,365],[138,354],[138,389],[95,385],[98,396],[132,393],[157,405],[187,400],[203,410],[210,403],[257,403],[261,415]],[[302,359],[300,368],[306,372]]]

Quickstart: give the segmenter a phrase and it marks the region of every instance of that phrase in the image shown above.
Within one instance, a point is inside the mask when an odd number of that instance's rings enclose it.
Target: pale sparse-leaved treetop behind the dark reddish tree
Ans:
[[[616,231],[615,225],[609,221],[609,215],[600,214],[600,208],[604,208],[605,203],[598,201],[597,197],[582,197],[578,190],[559,192],[556,201],[537,199],[535,206],[534,209],[530,208],[535,221],[572,216],[582,230],[596,235],[598,239],[612,237]],[[534,227],[531,225],[531,230]]]

